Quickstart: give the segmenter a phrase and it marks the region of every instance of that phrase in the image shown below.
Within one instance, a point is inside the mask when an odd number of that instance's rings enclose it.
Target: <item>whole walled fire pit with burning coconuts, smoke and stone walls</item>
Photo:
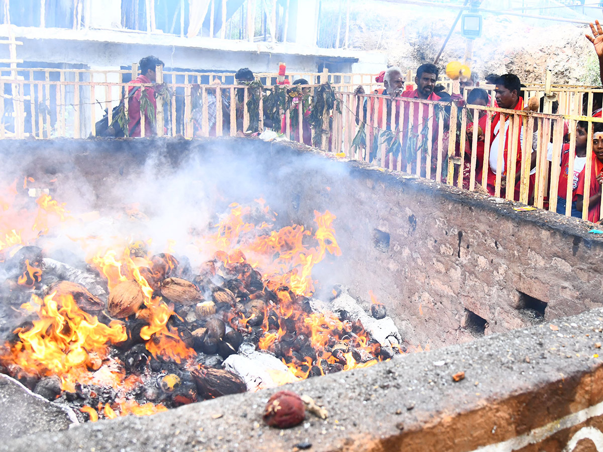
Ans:
[[[2,372],[80,421],[322,378],[600,306],[601,246],[572,219],[294,145],[19,144],[2,149],[20,155],[5,212],[24,207],[28,226],[0,237]],[[11,245],[17,233],[28,246]],[[93,326],[78,342],[82,325]],[[59,344],[60,359],[41,357],[40,341]]]

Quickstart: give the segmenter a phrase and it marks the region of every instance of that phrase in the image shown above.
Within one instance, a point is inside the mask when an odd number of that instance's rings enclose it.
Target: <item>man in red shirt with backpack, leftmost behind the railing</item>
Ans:
[[[157,57],[145,57],[138,63],[140,67],[140,75],[136,80],[132,81],[135,84],[150,84],[156,83],[157,74],[155,73],[157,66],[163,67],[163,61]],[[157,134],[157,101],[155,99],[155,90],[152,87],[139,87],[134,92],[134,86],[128,86],[128,136],[140,136],[140,96],[144,95],[148,98],[153,106],[145,108],[145,137],[154,136]],[[144,92],[144,94],[143,94]],[[160,125],[163,127],[163,124]]]

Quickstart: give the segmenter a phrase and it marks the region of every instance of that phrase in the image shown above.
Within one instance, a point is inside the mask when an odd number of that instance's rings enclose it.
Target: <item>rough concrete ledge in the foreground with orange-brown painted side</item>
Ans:
[[[602,315],[288,385],[329,411],[289,430],[262,422],[270,390],[27,436],[0,451],[280,451],[303,442],[313,451],[561,451],[603,429]],[[466,377],[455,383],[458,371]]]

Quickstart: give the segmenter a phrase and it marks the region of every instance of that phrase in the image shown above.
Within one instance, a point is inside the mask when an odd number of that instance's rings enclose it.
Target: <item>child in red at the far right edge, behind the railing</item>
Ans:
[[[590,175],[586,171],[578,178],[576,208],[582,212],[584,206],[584,184],[590,184],[588,220],[595,223],[601,218],[601,184],[603,183],[603,123],[596,122],[593,128],[593,157]]]

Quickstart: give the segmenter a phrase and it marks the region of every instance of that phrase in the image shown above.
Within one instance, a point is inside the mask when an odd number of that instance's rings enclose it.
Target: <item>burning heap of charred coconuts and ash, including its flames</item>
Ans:
[[[276,213],[264,200],[231,204],[208,231],[191,231],[189,257],[198,264],[152,254],[152,237],[71,230],[89,256],[72,265],[46,256],[41,239],[82,219],[48,193],[35,207],[16,184],[5,193],[0,297],[21,309],[0,347],[0,371],[90,421],[148,415],[400,353],[402,337],[376,301],[369,315],[341,287],[331,300],[312,297],[314,265],[341,254],[328,211],[315,212],[314,231],[275,230]]]

